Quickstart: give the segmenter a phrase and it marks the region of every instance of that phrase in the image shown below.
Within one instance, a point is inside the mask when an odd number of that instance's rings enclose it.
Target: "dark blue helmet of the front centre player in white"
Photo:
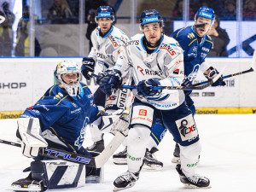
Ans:
[[[153,22],[159,22],[160,26],[164,26],[164,20],[157,10],[151,9],[143,11],[140,19],[140,27],[142,28],[145,24]]]

